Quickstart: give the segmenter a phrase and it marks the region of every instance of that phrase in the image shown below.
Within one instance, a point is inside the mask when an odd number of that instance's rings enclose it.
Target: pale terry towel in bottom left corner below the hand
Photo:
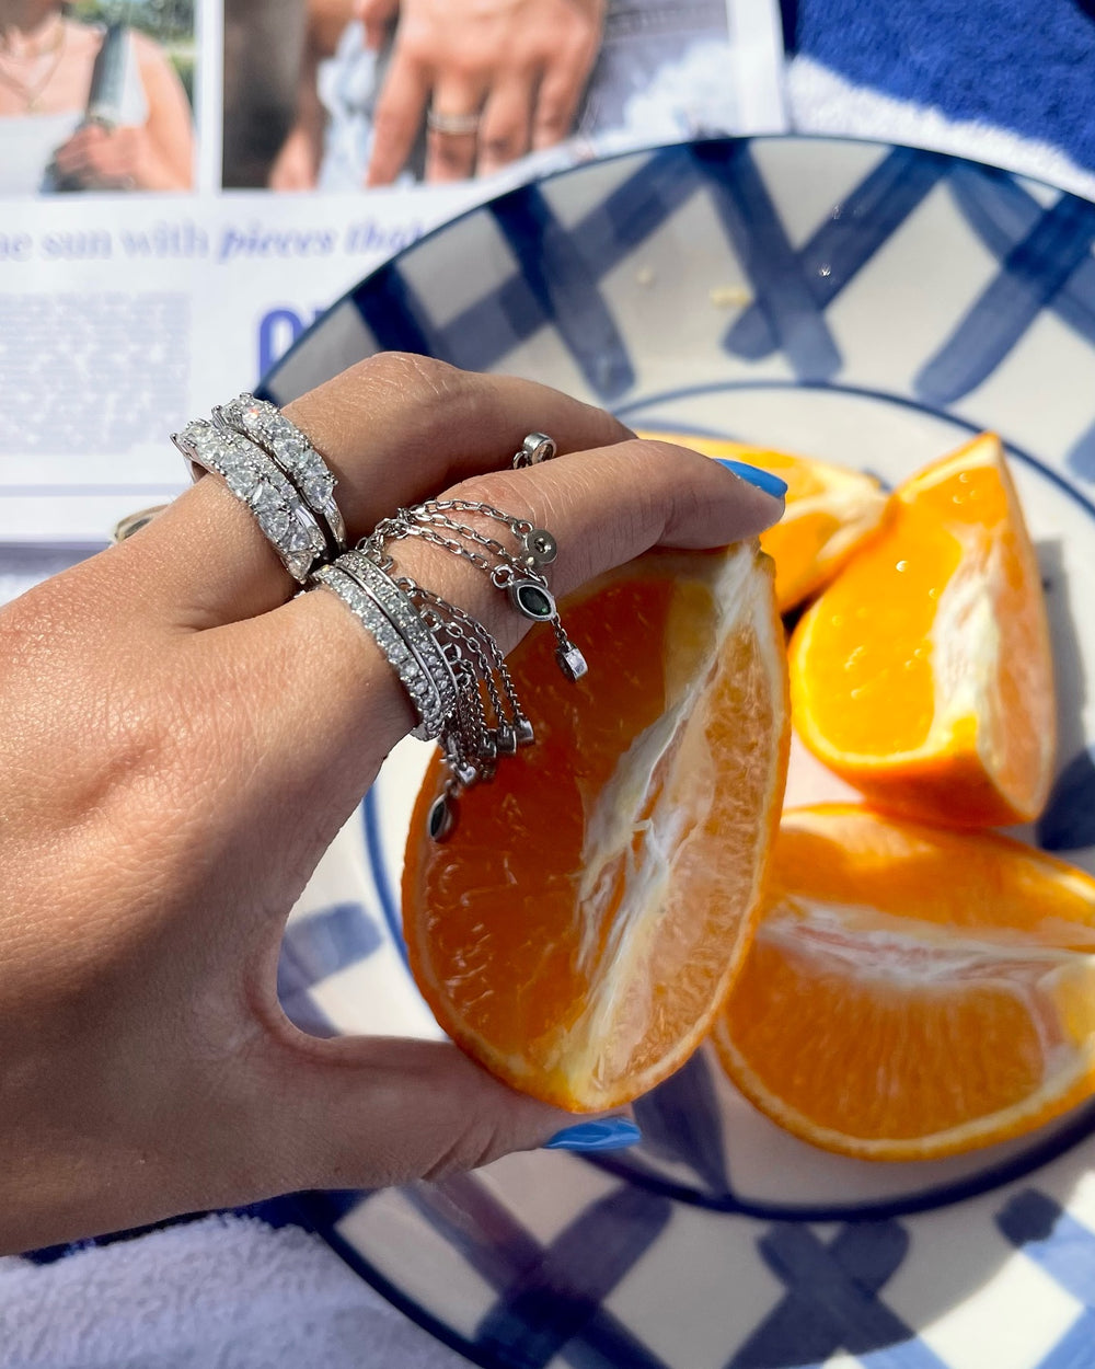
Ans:
[[[45,1266],[0,1259],[4,1369],[467,1369],[318,1236],[205,1217]]]

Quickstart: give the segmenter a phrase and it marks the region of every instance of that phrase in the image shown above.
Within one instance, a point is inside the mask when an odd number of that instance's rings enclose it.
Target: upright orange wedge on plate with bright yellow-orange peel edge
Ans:
[[[791,642],[795,726],[879,808],[1029,821],[1053,778],[1042,582],[1001,444],[984,434],[894,494]]]

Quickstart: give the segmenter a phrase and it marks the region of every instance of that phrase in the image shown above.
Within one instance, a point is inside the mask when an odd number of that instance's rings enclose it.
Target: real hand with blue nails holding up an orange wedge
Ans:
[[[364,361],[287,412],[339,476],[353,537],[443,490],[486,500],[557,535],[557,593],[780,513],[598,409],[420,357]],[[502,470],[530,430],[571,455]],[[456,557],[400,556],[504,649],[527,627]],[[453,1046],[316,1040],[283,1016],[286,916],[413,723],[335,596],[293,587],[207,476],[0,613],[3,1250],[433,1177],[571,1121]]]

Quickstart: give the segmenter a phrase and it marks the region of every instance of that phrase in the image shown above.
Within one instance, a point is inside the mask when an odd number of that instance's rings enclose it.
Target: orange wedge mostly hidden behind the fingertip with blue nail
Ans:
[[[780,613],[827,585],[877,527],[886,508],[886,496],[875,476],[843,465],[690,433],[642,433],[641,437],[657,437],[705,456],[760,465],[787,482],[787,511],[775,527],[761,534],[761,548],[776,563]]]

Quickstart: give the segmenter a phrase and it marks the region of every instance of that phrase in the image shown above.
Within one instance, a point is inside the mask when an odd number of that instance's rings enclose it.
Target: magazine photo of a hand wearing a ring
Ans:
[[[734,126],[725,0],[276,0],[296,47],[260,172],[242,130],[271,75],[240,63],[272,7],[226,0],[226,186],[441,183],[572,137],[612,151]]]

